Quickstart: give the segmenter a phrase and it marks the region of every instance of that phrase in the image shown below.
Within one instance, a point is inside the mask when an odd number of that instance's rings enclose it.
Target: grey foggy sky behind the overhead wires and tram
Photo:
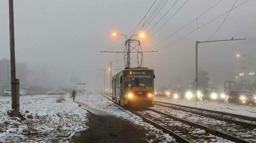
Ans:
[[[176,0],[168,0],[150,23],[151,28]],[[183,5],[177,5],[149,32],[152,35]],[[142,40],[142,51],[156,50],[180,39],[197,28],[194,21],[161,44],[162,39],[187,24],[219,0],[190,0],[173,18],[147,41]],[[245,0],[237,0],[236,5]],[[14,32],[16,62],[26,63],[28,69],[45,78],[46,86],[71,86],[70,78],[79,77],[88,90],[102,85],[102,71],[123,69],[123,55],[100,53],[124,43],[124,37],[112,38],[113,30],[128,34],[140,22],[154,0],[14,0]],[[235,0],[223,0],[198,18],[199,27],[231,9]],[[236,57],[243,48],[256,45],[256,1],[249,0],[233,9],[211,40],[246,38],[246,41],[215,42],[199,45],[198,71],[209,73],[209,78],[220,90],[224,81],[235,81],[240,63]],[[199,28],[190,35],[157,53],[144,53],[145,67],[155,70],[157,88],[187,87],[195,78],[195,41],[206,41],[216,31],[226,15]],[[0,60],[9,59],[8,0],[0,1]],[[157,45],[156,45],[157,44]],[[156,45],[156,46],[154,46]],[[153,47],[152,47],[153,46]],[[152,48],[150,48],[152,47]],[[123,46],[110,51],[123,51]],[[132,55],[136,59],[137,55]],[[120,57],[120,58],[119,58]],[[132,60],[132,67],[137,63]],[[113,71],[115,74],[117,70]],[[109,71],[106,71],[109,85]],[[100,81],[101,80],[101,81]]]

